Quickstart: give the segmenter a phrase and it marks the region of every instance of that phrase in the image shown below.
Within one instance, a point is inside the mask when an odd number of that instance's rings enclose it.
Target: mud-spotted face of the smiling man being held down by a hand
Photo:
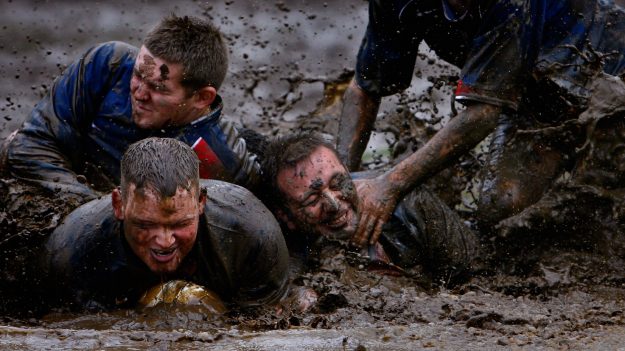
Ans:
[[[345,166],[320,146],[293,168],[278,173],[289,229],[348,239],[358,223],[358,197]]]

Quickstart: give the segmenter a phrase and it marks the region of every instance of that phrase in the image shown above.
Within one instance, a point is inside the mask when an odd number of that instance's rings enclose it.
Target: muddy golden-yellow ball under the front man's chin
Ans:
[[[217,294],[184,280],[170,280],[159,284],[146,291],[139,300],[139,305],[144,308],[159,304],[202,306],[216,314],[226,312],[226,307]]]

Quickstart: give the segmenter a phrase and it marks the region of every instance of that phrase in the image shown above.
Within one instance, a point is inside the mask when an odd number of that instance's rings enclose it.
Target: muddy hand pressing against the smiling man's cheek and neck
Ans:
[[[360,221],[352,242],[363,247],[378,241],[382,226],[393,213],[397,199],[384,178],[355,180],[354,184],[360,199]]]

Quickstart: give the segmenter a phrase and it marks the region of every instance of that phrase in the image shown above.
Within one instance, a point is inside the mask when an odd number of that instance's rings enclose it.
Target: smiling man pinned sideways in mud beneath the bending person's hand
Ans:
[[[333,145],[314,133],[281,137],[268,144],[262,164],[267,201],[287,232],[292,256],[306,255],[320,237],[349,241],[361,212],[352,175]],[[479,243],[455,212],[417,187],[397,204],[369,254],[399,267],[423,264],[450,281],[472,270]]]

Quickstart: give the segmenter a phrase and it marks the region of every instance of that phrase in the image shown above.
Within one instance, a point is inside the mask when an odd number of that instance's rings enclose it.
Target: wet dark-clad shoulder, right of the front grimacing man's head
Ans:
[[[280,225],[249,190],[238,185],[203,180],[206,231],[199,239],[211,248],[211,258],[228,272],[221,284],[239,306],[271,304],[286,293],[288,251]],[[227,282],[227,283],[224,283]]]

